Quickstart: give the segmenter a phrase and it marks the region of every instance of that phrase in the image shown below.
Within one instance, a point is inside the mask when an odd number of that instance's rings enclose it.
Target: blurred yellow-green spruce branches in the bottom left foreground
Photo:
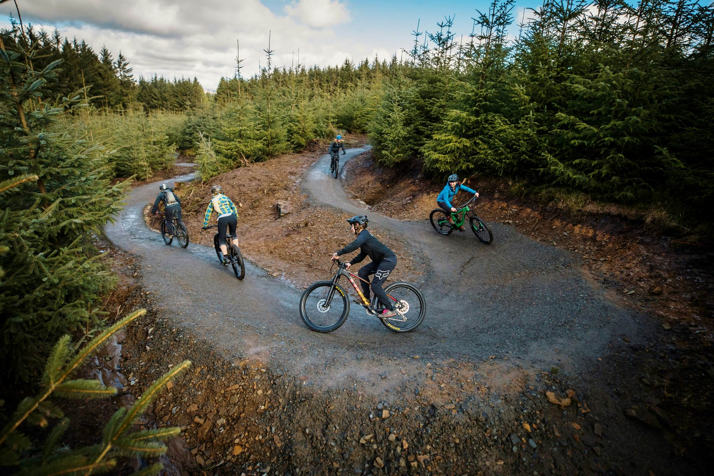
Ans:
[[[60,446],[69,420],[64,418],[61,408],[53,401],[56,397],[87,399],[115,395],[116,388],[104,387],[99,380],[69,380],[69,378],[90,355],[106,343],[111,335],[145,313],[145,309],[134,311],[106,328],[76,352],[70,350],[69,335],[64,335],[57,341],[46,360],[40,392],[34,397],[26,397],[22,400],[0,432],[0,465],[7,467],[6,470],[11,473],[22,475],[91,475],[93,472],[106,472],[116,467],[118,457],[156,457],[166,452],[166,445],[161,441],[178,435],[180,428],[167,427],[132,432],[131,427],[149,408],[151,401],[166,383],[191,365],[188,360],[175,365],[157,379],[129,409],[117,410],[104,428],[101,443],[90,447],[72,450]],[[22,432],[21,426],[47,428],[50,419],[53,418],[61,418],[61,420],[49,431],[38,453],[38,449],[34,448],[33,440]],[[134,474],[155,475],[161,468],[162,465],[156,463]]]

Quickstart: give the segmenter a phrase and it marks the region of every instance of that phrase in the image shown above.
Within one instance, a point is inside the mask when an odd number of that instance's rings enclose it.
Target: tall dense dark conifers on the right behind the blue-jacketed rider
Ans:
[[[714,205],[710,7],[545,1],[507,41],[512,9],[493,1],[458,45],[451,19],[423,44],[414,32],[400,68],[416,94],[397,101],[388,83],[370,126],[382,163],[405,160],[388,151],[395,133],[438,176],[508,176],[628,203],[680,197],[690,215]]]

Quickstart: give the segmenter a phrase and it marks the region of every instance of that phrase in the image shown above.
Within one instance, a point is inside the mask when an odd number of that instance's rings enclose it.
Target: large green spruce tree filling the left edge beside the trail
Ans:
[[[87,108],[84,91],[41,101],[61,61],[34,70],[36,48],[2,46],[0,357],[6,372],[28,379],[48,343],[99,323],[97,305],[115,281],[89,238],[119,211],[126,183],[112,186],[106,149],[61,120]]]

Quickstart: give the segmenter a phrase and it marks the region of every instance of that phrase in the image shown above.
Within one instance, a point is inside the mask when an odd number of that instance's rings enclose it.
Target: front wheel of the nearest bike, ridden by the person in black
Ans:
[[[332,281],[318,281],[300,298],[300,317],[308,328],[318,333],[330,333],[347,320],[350,301],[347,293]]]

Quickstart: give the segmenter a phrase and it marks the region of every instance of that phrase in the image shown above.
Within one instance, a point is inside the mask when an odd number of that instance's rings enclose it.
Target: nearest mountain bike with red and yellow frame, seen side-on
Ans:
[[[338,270],[331,281],[318,281],[308,287],[300,298],[300,317],[303,323],[321,333],[329,333],[338,329],[347,320],[350,313],[350,300],[347,293],[339,285],[341,276],[346,276],[356,293],[362,299],[360,304],[368,315],[373,315],[381,323],[396,333],[408,333],[419,327],[426,315],[426,303],[421,292],[409,283],[394,283],[386,288],[388,297],[397,315],[391,318],[381,318],[381,309],[378,308],[378,299],[373,296],[370,303],[352,279],[357,278],[365,283],[358,275],[350,273],[345,268],[345,263],[336,260]],[[332,270],[332,268],[330,268]]]

